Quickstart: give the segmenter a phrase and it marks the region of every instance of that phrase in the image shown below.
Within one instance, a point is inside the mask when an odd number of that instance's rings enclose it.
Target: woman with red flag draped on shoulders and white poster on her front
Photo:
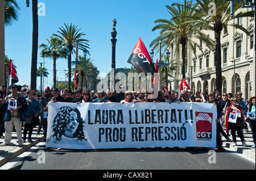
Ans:
[[[231,98],[230,102],[231,102],[230,107],[228,108],[228,111],[226,111],[226,114],[225,114],[224,125],[226,125],[226,133],[228,134],[229,129],[231,129],[231,134],[233,137],[233,146],[237,146],[236,132],[240,137],[242,145],[246,146],[245,138],[243,138],[243,133],[242,133],[242,128],[245,127],[245,116],[243,115],[241,106],[237,105],[236,97]],[[236,113],[236,117],[237,117],[236,123],[229,123],[230,113]]]

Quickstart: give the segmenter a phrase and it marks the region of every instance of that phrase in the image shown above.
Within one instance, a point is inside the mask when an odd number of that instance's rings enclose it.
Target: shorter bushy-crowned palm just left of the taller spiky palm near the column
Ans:
[[[39,48],[43,48],[41,51],[42,56],[53,58],[53,87],[56,87],[56,59],[67,57],[67,51],[63,49],[63,43],[58,37],[51,37],[51,39],[46,40],[48,45],[40,44]]]

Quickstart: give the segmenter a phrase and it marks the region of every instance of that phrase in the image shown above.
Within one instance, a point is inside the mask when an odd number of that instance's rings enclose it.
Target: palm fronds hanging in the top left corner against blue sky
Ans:
[[[19,18],[19,5],[15,0],[5,0],[5,26],[11,26]]]

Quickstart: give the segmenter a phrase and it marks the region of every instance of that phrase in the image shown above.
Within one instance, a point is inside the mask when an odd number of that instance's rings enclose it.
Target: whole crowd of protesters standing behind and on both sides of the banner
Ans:
[[[154,103],[181,103],[181,102],[197,102],[197,103],[213,103],[217,106],[217,148],[222,150],[221,134],[226,140],[233,142],[233,146],[237,145],[236,132],[241,139],[242,145],[246,146],[243,137],[243,129],[248,131],[247,124],[250,124],[251,132],[253,133],[255,148],[255,96],[250,98],[249,103],[245,98],[242,98],[242,92],[237,92],[236,95],[224,92],[222,95],[218,90],[207,92],[195,92],[192,94],[191,90],[176,91],[158,91],[156,99],[152,99],[151,92],[135,92],[122,91],[124,87],[119,87],[121,92],[110,91],[90,91],[77,90],[76,92],[69,89],[58,90],[56,88],[44,90],[43,95],[39,92],[20,89],[21,86],[10,86],[10,92],[6,93],[6,86],[0,86],[0,136],[3,137],[5,132],[5,142],[1,146],[10,144],[11,131],[13,127],[16,129],[18,144],[22,145],[22,123],[24,121],[23,142],[26,142],[26,135],[28,132],[28,141],[32,142],[32,129],[39,125],[38,132],[40,134],[43,128],[44,141],[46,141],[47,134],[47,112],[48,103],[52,102],[70,102],[70,103],[137,103],[137,102],[154,102]],[[17,100],[17,107],[10,112],[7,109],[7,104],[10,98]],[[239,112],[237,114],[237,123],[229,123],[229,115],[231,112]],[[254,118],[249,117],[247,112],[254,113]],[[40,115],[40,122],[39,122]],[[5,124],[4,124],[5,123]],[[224,132],[224,127],[226,132]],[[231,131],[232,140],[229,138],[229,130]]]

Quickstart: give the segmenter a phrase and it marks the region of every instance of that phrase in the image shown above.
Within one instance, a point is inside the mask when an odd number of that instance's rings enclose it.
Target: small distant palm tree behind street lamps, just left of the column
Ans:
[[[86,77],[85,77],[85,71],[84,71],[84,57],[83,56],[79,56],[79,61],[81,62],[80,64],[77,64],[77,71],[79,72],[80,76],[81,77],[81,89],[82,87],[84,87],[84,80],[85,82],[87,81]],[[85,62],[85,65],[86,65],[86,68],[89,68],[90,67],[90,64],[92,64],[92,60],[90,60],[90,58],[86,58],[86,62]],[[76,71],[76,68],[72,68],[71,70],[71,74],[72,75],[75,75],[75,71]],[[86,75],[88,75],[89,73],[89,70],[86,69]],[[86,84],[86,88],[87,88],[87,84]]]

